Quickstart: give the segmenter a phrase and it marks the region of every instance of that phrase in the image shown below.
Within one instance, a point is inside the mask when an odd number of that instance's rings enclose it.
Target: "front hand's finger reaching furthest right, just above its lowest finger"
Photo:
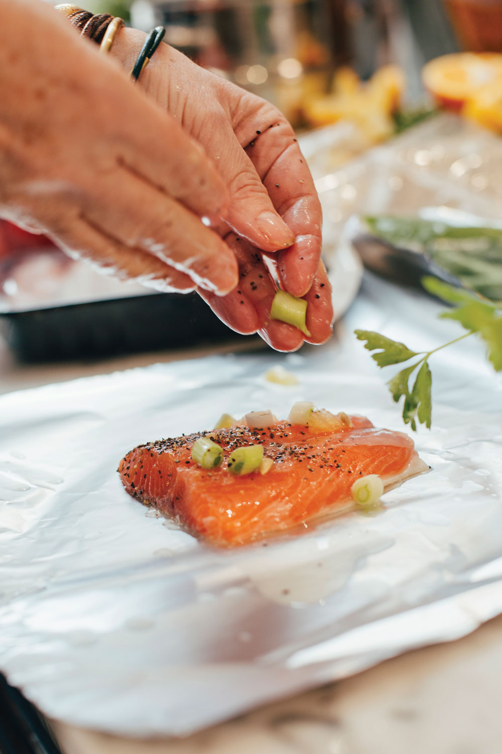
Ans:
[[[106,198],[113,196],[111,204]],[[142,249],[217,295],[236,286],[235,256],[199,217],[129,170],[99,180],[86,216],[123,246]]]

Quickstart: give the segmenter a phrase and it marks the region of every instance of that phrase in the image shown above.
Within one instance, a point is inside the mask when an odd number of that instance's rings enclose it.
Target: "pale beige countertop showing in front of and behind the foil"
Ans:
[[[257,347],[250,340],[249,348]],[[0,342],[0,393],[211,352],[23,366]],[[123,740],[53,727],[65,754],[500,754],[501,637],[502,616],[464,639],[410,652],[186,740]]]

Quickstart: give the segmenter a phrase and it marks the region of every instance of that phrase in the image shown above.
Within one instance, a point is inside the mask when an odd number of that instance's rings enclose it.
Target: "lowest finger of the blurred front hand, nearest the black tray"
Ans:
[[[145,251],[124,247],[79,216],[59,219],[59,226],[49,226],[47,234],[69,256],[120,280],[135,280],[162,293],[189,293],[195,288],[188,275]]]

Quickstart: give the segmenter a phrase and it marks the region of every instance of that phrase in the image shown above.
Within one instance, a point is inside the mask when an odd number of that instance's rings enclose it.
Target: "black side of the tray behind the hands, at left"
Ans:
[[[163,348],[244,341],[196,293],[0,313],[8,345],[25,362],[86,360]]]

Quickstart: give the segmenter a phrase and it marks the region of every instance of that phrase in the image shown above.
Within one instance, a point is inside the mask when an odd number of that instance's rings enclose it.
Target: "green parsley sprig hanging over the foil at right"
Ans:
[[[396,403],[404,398],[403,421],[411,425],[413,431],[416,431],[417,420],[420,424],[431,428],[432,375],[428,361],[437,351],[477,334],[485,342],[488,360],[494,369],[497,372],[502,370],[502,302],[483,299],[468,290],[443,283],[435,277],[425,277],[422,284],[429,293],[453,305],[454,308],[443,312],[440,317],[456,320],[467,330],[467,333],[426,352],[412,351],[404,343],[370,330],[354,330],[357,339],[366,341],[364,348],[374,351],[372,358],[380,367],[406,361],[412,362],[389,380],[388,387]],[[418,358],[415,360],[415,357]]]

